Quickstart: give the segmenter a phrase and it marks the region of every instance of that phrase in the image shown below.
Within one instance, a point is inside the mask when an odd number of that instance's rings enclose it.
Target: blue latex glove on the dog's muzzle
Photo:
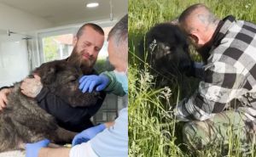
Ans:
[[[100,75],[91,75],[91,76],[82,76],[79,80],[79,89],[82,93],[89,92],[96,87],[96,91],[102,91],[108,86],[109,79],[107,76]]]

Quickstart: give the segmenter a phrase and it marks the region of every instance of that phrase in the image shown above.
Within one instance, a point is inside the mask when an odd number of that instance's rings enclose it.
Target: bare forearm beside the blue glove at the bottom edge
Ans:
[[[68,148],[60,148],[60,149],[52,149],[52,148],[43,148],[39,150],[38,157],[68,157],[70,149]]]

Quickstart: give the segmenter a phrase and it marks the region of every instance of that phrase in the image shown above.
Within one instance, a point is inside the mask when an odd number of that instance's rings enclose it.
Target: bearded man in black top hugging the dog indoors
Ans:
[[[99,51],[102,49],[103,42],[104,31],[99,25],[92,23],[82,25],[73,39],[73,52],[66,61],[79,64],[84,75],[96,74],[93,66],[96,63]],[[91,104],[89,107],[73,108],[57,97],[55,93],[50,92],[47,87],[43,87],[39,76],[26,78],[20,88],[22,93],[35,98],[41,108],[53,115],[59,126],[73,132],[81,132],[93,126],[90,117],[100,109],[106,96],[105,93],[101,93],[101,98],[98,99],[96,104]],[[6,96],[9,93],[10,88],[3,88],[0,91],[0,110],[7,104]]]

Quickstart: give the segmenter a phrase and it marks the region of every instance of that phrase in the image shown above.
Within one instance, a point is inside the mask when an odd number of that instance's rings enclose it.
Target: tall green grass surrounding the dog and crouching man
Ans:
[[[173,81],[169,88],[154,89],[147,66],[137,64],[137,47],[151,26],[177,18],[194,3],[205,3],[219,18],[232,14],[237,20],[256,23],[256,0],[129,0],[129,156],[221,156],[220,148],[210,147],[195,154],[182,143],[182,124],[170,108],[183,97]],[[196,59],[199,59],[195,55]],[[143,68],[142,68],[143,67]],[[195,84],[188,86],[195,88]],[[241,156],[239,142],[230,132],[228,156]],[[251,155],[253,156],[253,155]]]

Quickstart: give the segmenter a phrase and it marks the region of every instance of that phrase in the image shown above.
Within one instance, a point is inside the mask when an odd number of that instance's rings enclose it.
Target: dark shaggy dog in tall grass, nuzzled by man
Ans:
[[[171,23],[154,25],[141,42],[140,53],[160,87],[168,86],[168,80],[174,77],[190,76],[193,70],[186,36]]]

